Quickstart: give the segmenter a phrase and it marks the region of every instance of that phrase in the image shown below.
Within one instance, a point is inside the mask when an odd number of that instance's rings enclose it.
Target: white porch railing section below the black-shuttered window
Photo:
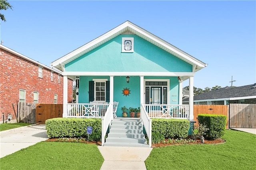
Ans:
[[[106,114],[109,104],[96,103],[68,103],[67,117],[102,118]]]

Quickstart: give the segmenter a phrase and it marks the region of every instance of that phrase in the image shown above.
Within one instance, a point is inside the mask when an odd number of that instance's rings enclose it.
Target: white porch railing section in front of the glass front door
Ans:
[[[146,105],[146,113],[150,118],[189,119],[189,105]]]

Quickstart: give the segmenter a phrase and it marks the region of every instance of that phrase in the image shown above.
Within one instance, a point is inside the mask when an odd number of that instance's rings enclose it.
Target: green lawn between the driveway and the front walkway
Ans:
[[[1,170],[99,170],[104,159],[96,144],[39,142],[0,159]]]

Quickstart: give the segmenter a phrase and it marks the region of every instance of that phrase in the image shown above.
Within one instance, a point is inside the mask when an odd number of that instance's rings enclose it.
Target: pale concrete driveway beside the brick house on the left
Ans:
[[[34,125],[0,132],[0,158],[48,139],[45,125]]]

